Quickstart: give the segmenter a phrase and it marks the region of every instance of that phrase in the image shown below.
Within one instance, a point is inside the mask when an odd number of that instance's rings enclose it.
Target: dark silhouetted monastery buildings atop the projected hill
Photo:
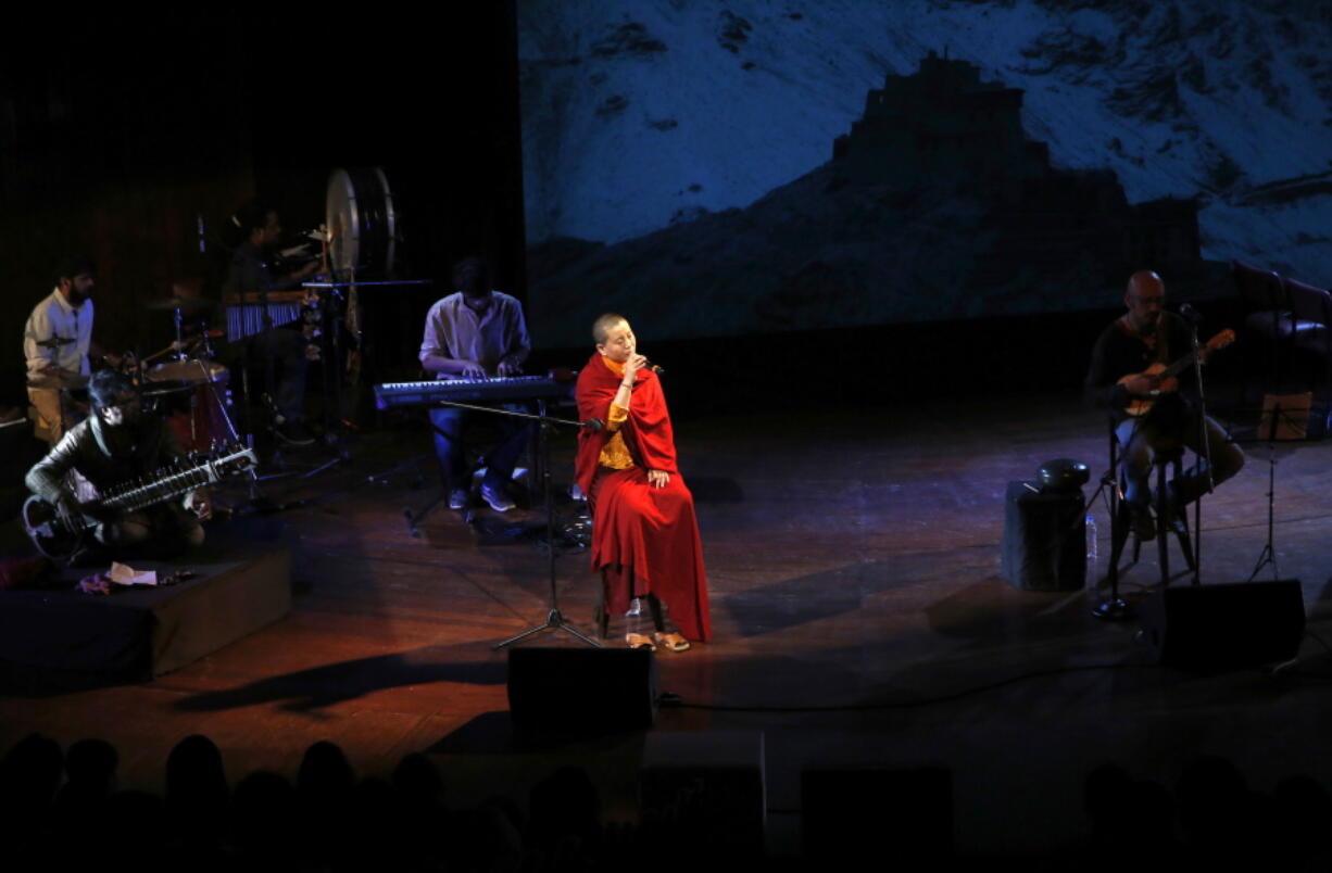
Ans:
[[[914,75],[870,90],[864,116],[834,141],[834,166],[852,184],[910,192],[928,180],[992,204],[1000,240],[976,263],[974,287],[1032,263],[1094,262],[1111,277],[1199,270],[1197,202],[1130,204],[1112,170],[1051,168],[1047,144],[1022,128],[1023,93],[930,52]]]

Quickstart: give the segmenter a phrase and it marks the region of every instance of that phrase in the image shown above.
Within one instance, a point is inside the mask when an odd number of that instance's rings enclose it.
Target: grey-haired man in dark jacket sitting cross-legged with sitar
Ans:
[[[93,414],[75,425],[61,440],[28,471],[28,488],[51,503],[67,527],[91,527],[95,539],[112,550],[144,543],[198,546],[204,542],[201,519],[212,515],[202,490],[182,498],[123,514],[99,500],[79,503],[67,482],[79,471],[100,492],[127,482],[145,479],[184,456],[170,429],[157,417],[144,415],[139,394],[120,373],[103,370],[88,383]],[[81,516],[81,518],[80,518]]]

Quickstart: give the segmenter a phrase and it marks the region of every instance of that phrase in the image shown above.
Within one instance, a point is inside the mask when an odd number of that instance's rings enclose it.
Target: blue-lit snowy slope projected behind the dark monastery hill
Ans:
[[[1332,20],[1317,4],[518,8],[529,245],[746,206],[825,164],[866,92],[936,49],[1026,89],[1023,124],[1056,166],[1114,169],[1135,202],[1201,197],[1204,257],[1332,282]],[[1313,180],[1283,185],[1299,177]]]

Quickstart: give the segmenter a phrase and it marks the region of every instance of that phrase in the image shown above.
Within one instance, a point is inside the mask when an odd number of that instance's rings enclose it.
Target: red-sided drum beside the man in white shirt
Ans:
[[[143,395],[157,398],[181,448],[206,452],[233,439],[225,406],[229,378],[226,367],[216,361],[168,361],[148,370]]]

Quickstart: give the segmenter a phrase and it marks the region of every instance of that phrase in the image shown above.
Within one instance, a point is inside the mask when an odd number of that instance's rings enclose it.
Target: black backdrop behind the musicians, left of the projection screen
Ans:
[[[71,252],[99,261],[97,339],[145,345],[144,305],[216,282],[210,244],[258,193],[288,230],[324,220],[329,173],[382,166],[402,236],[400,275],[444,279],[480,253],[522,294],[513,9],[418,16],[184,11],[152,21],[49,17],[0,52],[0,405],[21,403],[20,337]],[[353,20],[353,17],[356,20]],[[366,298],[377,366],[414,369],[429,289]],[[4,351],[8,349],[8,351]],[[376,378],[377,374],[368,374]],[[385,378],[389,378],[385,375]]]

